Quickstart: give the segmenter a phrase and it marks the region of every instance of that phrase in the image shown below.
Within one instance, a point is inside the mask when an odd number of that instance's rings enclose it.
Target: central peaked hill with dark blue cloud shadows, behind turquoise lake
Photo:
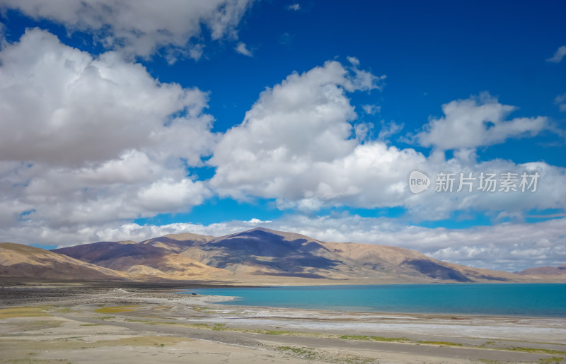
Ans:
[[[265,228],[193,242],[192,247],[180,254],[209,266],[254,275],[384,283],[512,281],[516,278],[506,272],[439,262],[400,247],[322,242]]]

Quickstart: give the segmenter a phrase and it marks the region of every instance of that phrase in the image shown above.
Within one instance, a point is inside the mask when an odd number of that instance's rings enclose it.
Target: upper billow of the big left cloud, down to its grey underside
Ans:
[[[212,122],[202,115],[206,93],[159,83],[112,52],[94,59],[42,30],[6,45],[0,64],[3,160],[98,162],[157,146],[180,130],[207,131]],[[184,144],[189,158],[208,148],[201,136],[191,142]]]

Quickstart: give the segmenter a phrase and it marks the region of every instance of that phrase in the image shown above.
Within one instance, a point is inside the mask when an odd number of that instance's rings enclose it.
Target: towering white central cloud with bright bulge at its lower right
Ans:
[[[328,61],[265,90],[214,148],[211,186],[224,195],[277,198],[301,209],[361,194],[373,195],[373,205],[399,199],[404,185],[397,182],[424,157],[384,143],[358,143],[351,124],[357,114],[347,93],[379,89],[384,76],[350,61],[350,67]],[[384,191],[374,194],[380,187]]]

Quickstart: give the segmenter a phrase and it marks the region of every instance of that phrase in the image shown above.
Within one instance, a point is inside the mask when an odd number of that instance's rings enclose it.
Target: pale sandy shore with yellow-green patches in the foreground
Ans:
[[[566,319],[220,305],[132,286],[0,287],[6,363],[566,363]]]

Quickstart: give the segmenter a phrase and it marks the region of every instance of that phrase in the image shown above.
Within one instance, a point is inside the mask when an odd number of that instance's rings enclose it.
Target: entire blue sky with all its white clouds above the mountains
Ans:
[[[2,240],[263,225],[564,264],[564,1],[65,3],[0,1]],[[439,172],[541,179],[442,193]]]

